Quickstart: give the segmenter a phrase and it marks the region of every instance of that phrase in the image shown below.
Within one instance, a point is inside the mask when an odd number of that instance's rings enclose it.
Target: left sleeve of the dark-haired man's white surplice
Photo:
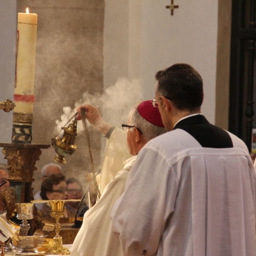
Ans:
[[[140,151],[126,190],[111,212],[112,231],[122,244],[124,256],[154,255],[174,210],[178,181],[168,161],[158,153],[145,147]]]

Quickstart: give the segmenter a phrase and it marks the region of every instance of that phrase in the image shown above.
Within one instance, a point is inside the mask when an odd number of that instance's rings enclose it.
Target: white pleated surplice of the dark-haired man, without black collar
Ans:
[[[145,145],[112,213],[125,255],[255,256],[255,172],[230,137],[203,148],[177,129]]]

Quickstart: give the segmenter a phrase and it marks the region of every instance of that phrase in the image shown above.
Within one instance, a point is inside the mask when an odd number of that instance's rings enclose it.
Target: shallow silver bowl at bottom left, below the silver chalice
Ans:
[[[37,253],[36,248],[44,244],[44,236],[19,236],[17,248],[22,249],[21,253]]]

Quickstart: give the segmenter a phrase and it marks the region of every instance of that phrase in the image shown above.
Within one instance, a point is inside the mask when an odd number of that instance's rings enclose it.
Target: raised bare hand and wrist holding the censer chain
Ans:
[[[112,125],[105,122],[100,113],[99,110],[96,107],[93,107],[89,104],[83,104],[80,105],[76,111],[78,112],[77,119],[81,120],[80,115],[80,109],[83,108],[85,110],[85,117],[88,120],[88,122],[93,125],[94,128],[96,128],[98,131],[102,132],[102,134],[106,135],[108,131],[111,129]]]

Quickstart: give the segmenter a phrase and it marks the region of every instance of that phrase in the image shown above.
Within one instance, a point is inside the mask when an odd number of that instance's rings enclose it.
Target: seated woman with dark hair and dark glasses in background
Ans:
[[[65,181],[65,176],[62,174],[52,174],[47,177],[41,186],[41,197],[42,200],[62,200],[67,199],[67,183]],[[42,213],[41,218],[52,218],[51,207],[49,203],[44,204],[43,208],[40,210]],[[68,217],[67,209],[64,207],[64,217]]]

